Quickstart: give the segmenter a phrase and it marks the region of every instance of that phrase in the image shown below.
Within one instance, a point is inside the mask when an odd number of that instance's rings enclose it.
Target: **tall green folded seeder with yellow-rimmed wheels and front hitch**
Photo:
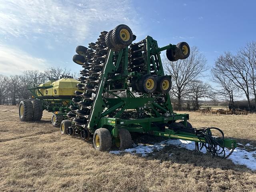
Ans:
[[[222,130],[193,128],[188,114],[172,109],[171,76],[164,74],[160,52],[166,50],[166,57],[174,62],[188,58],[189,45],[180,42],[158,47],[151,36],[132,43],[134,40],[132,30],[121,24],[102,31],[88,48],[77,46],[73,61],[82,66],[79,91],[61,123],[61,134],[86,141],[92,138],[94,148],[100,151],[112,146],[129,148],[133,132],[194,141],[196,151],[205,147],[222,158],[225,147],[232,153],[236,142],[224,138]]]

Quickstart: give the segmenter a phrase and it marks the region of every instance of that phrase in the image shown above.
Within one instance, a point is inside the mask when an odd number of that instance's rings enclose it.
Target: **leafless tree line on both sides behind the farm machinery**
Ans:
[[[172,89],[170,97],[176,110],[197,110],[200,108],[199,100],[226,100],[231,108],[235,108],[236,98],[245,97],[248,110],[256,110],[256,42],[248,42],[235,54],[224,52],[216,58],[212,68],[207,66],[205,56],[197,47],[192,47],[190,56],[185,60],[170,62],[166,58],[163,62],[166,74],[172,76]],[[211,77],[206,77],[209,71]],[[0,104],[8,103],[15,105],[22,99],[28,99],[30,92],[28,84],[35,78],[46,76],[59,79],[60,76],[68,75],[78,78],[78,73],[60,67],[51,67],[44,72],[27,70],[21,75],[9,77],[0,75]],[[205,82],[208,79],[217,84],[210,85]]]

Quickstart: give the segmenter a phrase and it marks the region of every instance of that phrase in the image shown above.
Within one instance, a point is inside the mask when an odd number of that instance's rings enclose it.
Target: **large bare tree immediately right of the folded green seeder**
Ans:
[[[181,109],[182,98],[186,94],[186,86],[207,70],[206,58],[199,52],[197,47],[192,47],[190,56],[184,60],[170,62],[165,59],[165,71],[172,76],[172,92],[178,99],[178,110]]]

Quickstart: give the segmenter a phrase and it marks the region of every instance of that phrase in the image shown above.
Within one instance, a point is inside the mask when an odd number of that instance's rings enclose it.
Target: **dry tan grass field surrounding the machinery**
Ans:
[[[256,146],[256,114],[189,114],[194,127],[216,126]],[[256,191],[256,172],[228,159],[176,146],[148,157],[98,152],[92,142],[62,136],[50,117],[44,112],[40,122],[20,122],[18,107],[0,106],[0,191]]]

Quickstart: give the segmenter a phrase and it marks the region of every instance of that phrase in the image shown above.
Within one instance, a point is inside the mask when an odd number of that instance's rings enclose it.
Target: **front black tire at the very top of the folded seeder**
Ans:
[[[129,39],[127,41],[122,40],[122,38],[120,36],[120,31],[122,29],[125,29],[125,30],[127,30],[129,32],[129,36],[130,37],[129,37]],[[113,39],[114,44],[116,44],[116,45],[129,46],[132,43],[132,41],[133,41],[132,30],[127,25],[124,25],[124,24],[118,25],[112,31],[112,39]]]

